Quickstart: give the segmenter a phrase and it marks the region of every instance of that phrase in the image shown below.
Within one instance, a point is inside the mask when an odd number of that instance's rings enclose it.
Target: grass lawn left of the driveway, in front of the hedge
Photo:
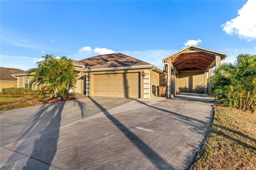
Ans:
[[[0,95],[0,111],[43,105],[44,98],[38,95]]]

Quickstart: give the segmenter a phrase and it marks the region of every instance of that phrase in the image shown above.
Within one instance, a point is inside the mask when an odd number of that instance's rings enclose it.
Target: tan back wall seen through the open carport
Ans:
[[[180,92],[204,93],[204,71],[179,71]]]

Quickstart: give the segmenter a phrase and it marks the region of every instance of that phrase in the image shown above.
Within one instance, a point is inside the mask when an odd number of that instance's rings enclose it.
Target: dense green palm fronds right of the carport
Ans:
[[[223,63],[212,76],[213,93],[224,105],[256,111],[256,55],[240,54],[234,63]]]

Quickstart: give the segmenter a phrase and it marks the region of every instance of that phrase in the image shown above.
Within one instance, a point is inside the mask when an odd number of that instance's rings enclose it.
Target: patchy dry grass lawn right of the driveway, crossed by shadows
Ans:
[[[194,170],[256,170],[256,115],[214,106],[210,138]]]

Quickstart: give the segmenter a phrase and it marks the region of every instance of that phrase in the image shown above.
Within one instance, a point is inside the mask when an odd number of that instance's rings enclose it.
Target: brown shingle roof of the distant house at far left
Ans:
[[[19,74],[19,73],[20,74],[26,73],[26,71],[23,71],[21,69],[0,67],[0,80],[1,81],[17,81],[17,79],[13,77],[12,74]]]

